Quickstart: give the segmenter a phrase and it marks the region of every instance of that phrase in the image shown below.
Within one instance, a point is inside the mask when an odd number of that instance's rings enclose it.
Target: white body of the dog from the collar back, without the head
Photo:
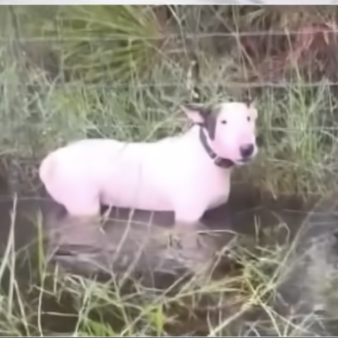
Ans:
[[[151,143],[85,139],[49,155],[42,181],[73,215],[98,213],[101,203],[198,219],[227,201],[232,170],[216,166],[201,142],[191,142],[198,135],[194,126],[179,137]]]

